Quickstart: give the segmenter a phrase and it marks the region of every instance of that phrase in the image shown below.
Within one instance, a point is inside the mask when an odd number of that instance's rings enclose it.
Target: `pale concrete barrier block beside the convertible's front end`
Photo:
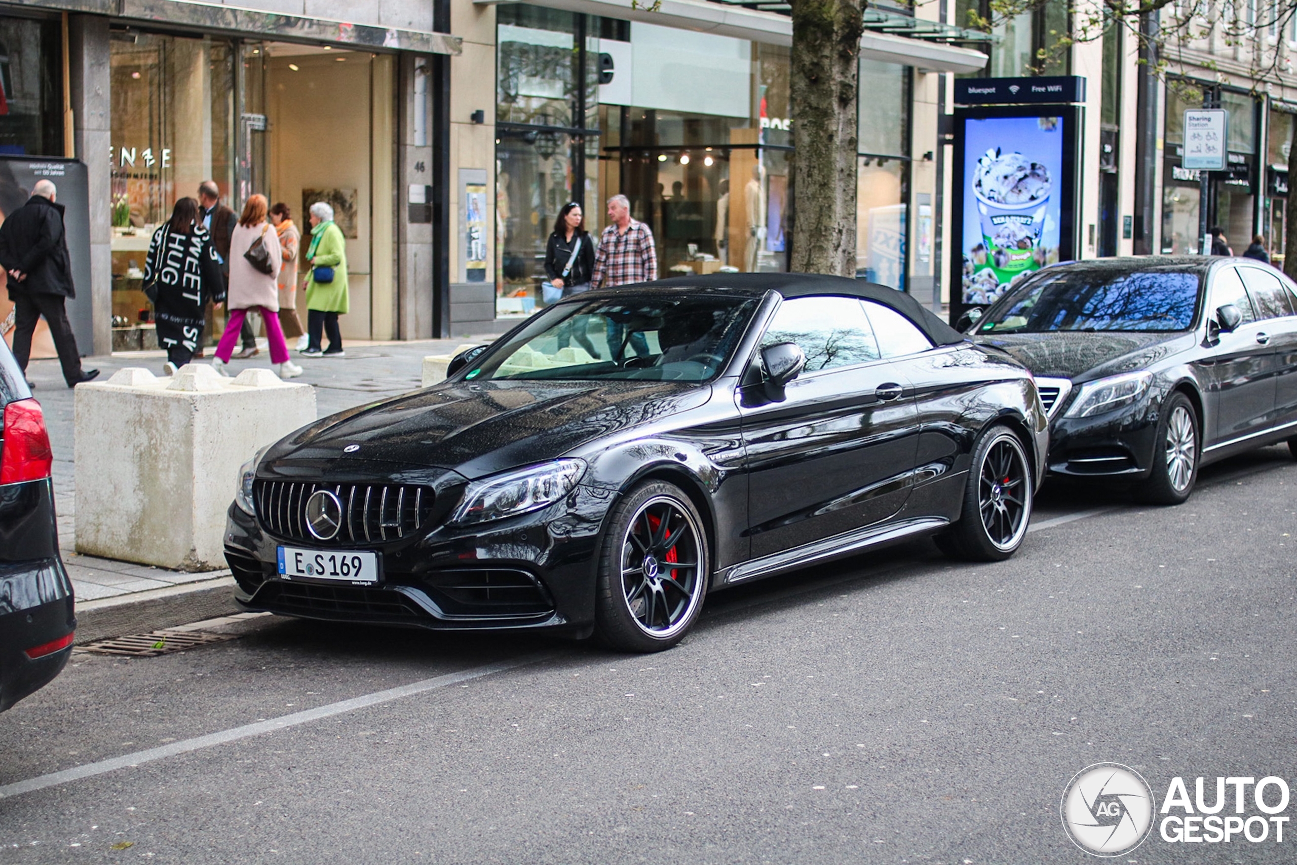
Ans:
[[[175,571],[226,567],[240,466],[315,421],[315,389],[268,370],[127,368],[78,385],[74,401],[77,551]]]

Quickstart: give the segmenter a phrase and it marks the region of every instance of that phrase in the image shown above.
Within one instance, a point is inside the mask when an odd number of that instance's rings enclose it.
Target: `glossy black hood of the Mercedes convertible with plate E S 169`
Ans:
[[[267,460],[337,467],[357,459],[475,479],[555,459],[700,406],[711,393],[709,385],[664,381],[445,383],[324,418],[281,441]]]

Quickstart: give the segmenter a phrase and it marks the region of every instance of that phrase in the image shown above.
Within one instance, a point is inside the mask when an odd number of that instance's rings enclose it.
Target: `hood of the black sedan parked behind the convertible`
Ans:
[[[1001,349],[1032,375],[1073,380],[1147,370],[1193,344],[1185,333],[1096,332],[1004,333],[975,338]]]

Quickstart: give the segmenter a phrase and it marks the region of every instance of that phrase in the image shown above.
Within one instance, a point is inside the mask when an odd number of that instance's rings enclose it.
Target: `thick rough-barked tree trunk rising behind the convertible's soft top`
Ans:
[[[794,271],[856,275],[863,0],[791,0]]]

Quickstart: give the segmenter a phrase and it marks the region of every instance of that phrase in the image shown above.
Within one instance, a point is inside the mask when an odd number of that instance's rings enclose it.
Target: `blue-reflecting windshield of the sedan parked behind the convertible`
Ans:
[[[987,310],[979,333],[1187,331],[1197,309],[1196,272],[1041,271]]]

